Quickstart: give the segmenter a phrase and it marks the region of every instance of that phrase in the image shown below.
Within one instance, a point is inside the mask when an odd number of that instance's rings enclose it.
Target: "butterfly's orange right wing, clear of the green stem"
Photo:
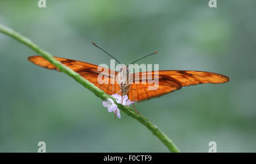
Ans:
[[[158,87],[154,87],[154,81],[144,79],[148,74],[152,79],[158,80]],[[143,83],[144,81],[144,83]],[[133,74],[128,96],[130,100],[141,101],[179,90],[184,86],[197,85],[201,83],[225,83],[229,77],[225,75],[190,70],[162,70],[158,74],[154,72],[141,72]],[[151,90],[148,88],[151,87]]]

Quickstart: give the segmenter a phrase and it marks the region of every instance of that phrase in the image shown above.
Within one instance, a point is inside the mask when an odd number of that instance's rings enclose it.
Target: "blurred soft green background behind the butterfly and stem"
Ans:
[[[137,103],[182,152],[256,150],[256,1],[0,1],[0,23],[54,56],[110,64],[94,41],[127,64],[205,70],[229,83],[198,85]],[[63,73],[27,61],[30,48],[0,33],[0,152],[168,152],[138,121]]]

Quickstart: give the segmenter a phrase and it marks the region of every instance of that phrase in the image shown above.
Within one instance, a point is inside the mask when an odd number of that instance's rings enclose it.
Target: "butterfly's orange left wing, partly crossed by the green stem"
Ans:
[[[60,57],[54,58],[61,62],[61,64],[64,64],[68,68],[79,73],[83,78],[93,83],[99,89],[106,92],[106,94],[114,94],[120,90],[118,83],[115,82],[115,75],[117,75],[117,72],[115,72],[114,70],[102,68],[97,65],[89,64],[87,62],[81,62]],[[28,60],[36,65],[42,66],[43,68],[55,69],[59,71],[59,69],[57,69],[55,65],[51,64],[51,62],[49,62],[42,56],[30,56],[28,57]],[[102,73],[104,77],[98,78],[98,75],[100,73]]]

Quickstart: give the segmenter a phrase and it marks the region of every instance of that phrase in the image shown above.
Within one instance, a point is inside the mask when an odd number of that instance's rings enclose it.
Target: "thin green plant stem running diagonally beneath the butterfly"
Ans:
[[[24,37],[20,35],[18,32],[15,32],[14,30],[3,26],[0,24],[0,32],[5,33],[8,36],[13,37],[14,39],[20,41],[23,44],[26,44],[28,47],[30,47],[32,50],[34,50],[36,53],[40,54],[42,57],[46,58],[49,62],[51,62],[53,65],[56,66],[61,72],[64,72],[65,74],[68,74],[70,77],[75,79],[77,82],[79,82],[82,86],[84,86],[86,89],[92,91],[96,96],[101,98],[102,100],[106,100],[108,98],[113,98],[113,96],[110,96],[106,94],[104,91],[98,89],[98,87],[94,86],[93,83],[90,83],[86,79],[82,78],[79,73],[74,72],[72,69],[69,69],[67,66],[61,64],[59,61],[55,60],[55,58],[52,57],[52,55],[43,49],[40,49],[38,45],[33,43],[30,39],[27,39],[27,37]],[[137,113],[133,110],[133,108],[128,106],[123,106],[122,104],[116,103],[118,108],[125,112],[127,115],[133,117],[134,119],[141,122],[143,125],[145,125],[156,137],[159,138],[160,141],[163,142],[164,145],[167,146],[167,148],[171,152],[179,152],[179,149],[175,146],[175,144],[172,142],[170,138],[166,136],[163,132],[161,132],[158,127],[156,127],[154,124],[152,124],[148,119],[141,115],[141,113]]]

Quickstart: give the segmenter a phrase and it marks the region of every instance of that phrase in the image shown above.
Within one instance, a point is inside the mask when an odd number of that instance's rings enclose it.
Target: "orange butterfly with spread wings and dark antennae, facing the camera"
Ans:
[[[94,43],[93,43],[94,44]],[[94,44],[97,48],[96,44]],[[102,51],[110,55],[104,49],[100,48]],[[147,56],[151,56],[151,53]],[[142,58],[145,58],[144,56]],[[127,95],[129,99],[135,102],[141,102],[142,100],[147,100],[150,98],[154,98],[157,96],[161,96],[167,94],[169,92],[179,90],[184,86],[197,85],[201,83],[225,83],[229,81],[229,77],[211,73],[204,71],[195,71],[195,70],[159,70],[156,72],[139,72],[139,73],[130,73],[129,65],[122,65],[119,69],[119,72],[115,72],[114,70],[100,67],[98,65],[90,64],[87,62],[71,60],[68,58],[54,57],[56,60],[64,64],[68,68],[74,70],[79,73],[83,78],[93,83],[99,89],[106,92],[106,94],[114,94],[118,93],[122,96]],[[118,61],[115,57],[113,57],[116,61]],[[140,58],[139,60],[141,60]],[[42,66],[43,68],[59,70],[47,61],[45,58],[41,56],[30,56],[28,60],[32,63]],[[137,62],[136,60],[134,62]],[[118,61],[119,62],[119,61]],[[131,64],[133,64],[132,62]],[[121,64],[119,62],[119,64]],[[98,75],[104,72],[104,79],[100,79],[99,81]],[[143,79],[143,77],[147,77],[147,75],[151,75],[154,80],[158,81],[158,88],[155,90],[148,89],[149,86],[152,86],[152,82]],[[126,82],[124,82],[124,77]],[[131,78],[132,77],[132,78]],[[133,79],[130,82],[127,82],[127,79]]]

